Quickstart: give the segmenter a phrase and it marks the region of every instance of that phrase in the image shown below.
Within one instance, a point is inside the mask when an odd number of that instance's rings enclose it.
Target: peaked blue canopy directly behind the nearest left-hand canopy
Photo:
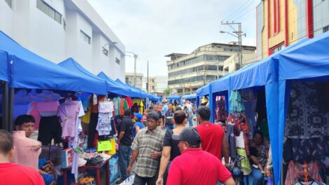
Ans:
[[[87,71],[76,60],[73,60],[73,58],[70,57],[58,65],[80,76],[83,79],[81,82],[85,83],[85,88],[87,88],[85,90],[86,92],[107,95],[108,88],[106,81]]]

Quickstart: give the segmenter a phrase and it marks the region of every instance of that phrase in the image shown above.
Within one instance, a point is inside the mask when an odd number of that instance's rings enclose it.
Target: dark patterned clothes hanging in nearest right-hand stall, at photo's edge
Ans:
[[[293,82],[283,144],[284,184],[328,184],[328,83]]]

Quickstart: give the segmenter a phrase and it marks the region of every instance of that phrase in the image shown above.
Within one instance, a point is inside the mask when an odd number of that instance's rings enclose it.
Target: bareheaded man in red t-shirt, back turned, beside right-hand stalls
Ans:
[[[201,106],[197,109],[197,121],[200,125],[197,126],[197,132],[201,137],[201,147],[204,151],[216,156],[222,160],[222,149],[225,158],[225,166],[228,167],[230,151],[228,149],[228,142],[221,125],[209,123],[210,109],[206,106]]]

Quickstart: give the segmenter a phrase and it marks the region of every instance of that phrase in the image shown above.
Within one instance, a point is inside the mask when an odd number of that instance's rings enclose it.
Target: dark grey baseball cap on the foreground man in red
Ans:
[[[195,128],[184,128],[179,135],[172,135],[172,139],[188,142],[190,145],[201,143],[200,135]]]

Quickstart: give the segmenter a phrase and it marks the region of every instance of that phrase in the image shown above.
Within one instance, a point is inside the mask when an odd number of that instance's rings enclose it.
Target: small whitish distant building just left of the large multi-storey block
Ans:
[[[148,93],[163,95],[168,88],[168,76],[152,76],[148,78]]]

